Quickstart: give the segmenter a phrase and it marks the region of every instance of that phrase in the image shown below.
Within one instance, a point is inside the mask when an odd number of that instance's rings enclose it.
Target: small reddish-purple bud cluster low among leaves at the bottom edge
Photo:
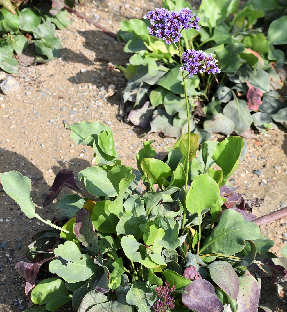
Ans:
[[[152,305],[155,312],[166,312],[175,307],[175,299],[171,293],[175,290],[175,285],[169,288],[170,283],[165,281],[165,286],[161,285],[155,288],[159,299]]]

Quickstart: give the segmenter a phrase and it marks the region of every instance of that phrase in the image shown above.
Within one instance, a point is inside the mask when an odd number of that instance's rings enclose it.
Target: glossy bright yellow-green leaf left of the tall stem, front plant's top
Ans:
[[[141,161],[141,168],[146,177],[154,179],[160,188],[169,185],[167,178],[171,176],[170,167],[160,159],[144,158]]]

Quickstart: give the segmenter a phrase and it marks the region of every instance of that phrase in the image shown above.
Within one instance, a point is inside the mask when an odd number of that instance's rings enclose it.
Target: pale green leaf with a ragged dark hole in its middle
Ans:
[[[121,245],[127,258],[134,262],[139,262],[147,268],[166,266],[160,255],[152,253],[145,245],[137,242],[132,235],[123,236]]]

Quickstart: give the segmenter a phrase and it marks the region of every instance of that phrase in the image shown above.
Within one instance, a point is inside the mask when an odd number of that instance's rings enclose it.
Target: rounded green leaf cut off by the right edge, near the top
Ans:
[[[284,31],[287,27],[287,16],[281,16],[271,22],[268,28],[268,41],[269,44],[286,44],[287,34]]]

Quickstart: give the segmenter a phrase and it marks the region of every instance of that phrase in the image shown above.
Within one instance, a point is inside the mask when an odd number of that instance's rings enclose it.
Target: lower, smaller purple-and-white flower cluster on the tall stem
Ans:
[[[182,60],[184,61],[184,66],[180,67],[180,71],[187,71],[189,73],[189,78],[195,75],[197,72],[203,73],[221,73],[221,70],[217,66],[217,60],[214,59],[213,54],[206,56],[206,53],[202,50],[196,51],[194,49],[187,49],[183,53]]]

